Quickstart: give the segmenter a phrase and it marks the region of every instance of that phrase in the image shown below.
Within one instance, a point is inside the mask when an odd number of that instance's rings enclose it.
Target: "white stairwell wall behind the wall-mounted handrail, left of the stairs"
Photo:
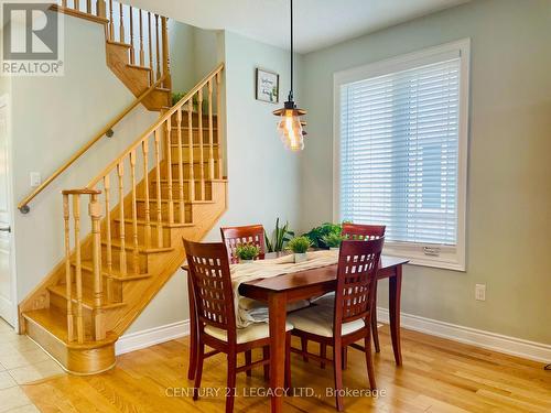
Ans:
[[[106,65],[104,28],[61,15],[65,19],[65,75],[12,79],[14,204],[32,191],[30,172],[40,172],[45,180],[134,99]],[[141,107],[134,109],[115,128],[111,139],[98,142],[40,194],[30,204],[30,214],[15,211],[18,301],[63,257],[61,191],[86,185],[156,117]]]

